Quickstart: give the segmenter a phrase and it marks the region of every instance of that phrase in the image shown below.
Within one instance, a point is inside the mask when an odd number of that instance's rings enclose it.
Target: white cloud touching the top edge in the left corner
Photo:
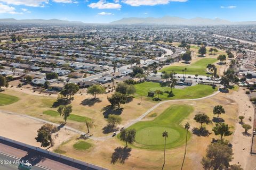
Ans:
[[[26,6],[41,6],[43,7],[45,4],[49,3],[49,0],[0,0],[0,2],[4,2],[6,4],[12,5],[26,5]]]

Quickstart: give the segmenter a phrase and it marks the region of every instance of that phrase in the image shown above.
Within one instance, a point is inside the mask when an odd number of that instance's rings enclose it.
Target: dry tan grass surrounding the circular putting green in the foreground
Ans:
[[[234,131],[234,125],[237,121],[237,104],[232,99],[233,90],[230,90],[229,94],[219,93],[216,96],[211,98],[203,99],[203,100],[193,100],[193,101],[168,101],[167,103],[157,107],[148,114],[145,119],[142,121],[154,121],[158,117],[161,117],[161,113],[163,113],[166,109],[170,108],[170,106],[175,105],[185,105],[188,107],[193,107],[194,110],[191,111],[181,122],[181,128],[185,125],[186,122],[190,123],[191,129],[190,131],[190,139],[188,140],[187,145],[187,154],[185,159],[185,164],[183,169],[203,169],[201,165],[202,157],[205,155],[205,149],[207,145],[212,142],[212,139],[219,139],[219,136],[214,135],[212,132],[212,128],[215,125],[213,122],[209,125],[203,125],[209,132],[209,136],[198,136],[194,134],[191,130],[194,128],[198,128],[200,126],[199,123],[196,123],[193,118],[196,114],[205,113],[208,115],[211,120],[213,117],[216,117],[212,113],[212,109],[215,105],[222,105],[225,108],[226,113],[221,114],[220,117],[225,120],[225,123],[229,124],[231,127],[230,131]],[[143,101],[142,101],[143,103]],[[132,112],[131,112],[132,113]],[[156,113],[152,117],[150,115]],[[166,120],[169,121],[169,120]],[[166,127],[167,128],[167,127]],[[163,129],[164,130],[164,129]],[[167,130],[167,129],[166,129]],[[164,143],[164,138],[162,137],[162,129],[161,137],[158,142]],[[139,132],[138,132],[139,133]],[[138,134],[137,134],[138,135]],[[173,137],[173,133],[169,132],[169,138]],[[225,139],[231,141],[233,135],[229,137],[224,137]],[[138,137],[137,137],[138,139]],[[111,138],[103,141],[91,141],[86,140],[86,142],[93,142],[93,147],[81,151],[77,150],[73,147],[74,143],[76,143],[77,139],[73,139],[64,145],[61,145],[59,149],[66,151],[65,155],[75,157],[78,159],[85,160],[87,162],[104,166],[109,169],[129,169],[129,170],[139,170],[139,169],[161,169],[163,166],[163,150],[147,150],[140,149],[138,147],[134,147],[128,145],[128,148],[124,148],[124,143],[119,141],[118,138]],[[129,148],[131,147],[131,148]],[[180,169],[183,159],[185,146],[179,146],[172,149],[166,150],[166,163],[164,169]],[[154,155],[154,156],[153,156]],[[97,157],[97,159],[95,159]],[[139,163],[138,163],[139,160]]]

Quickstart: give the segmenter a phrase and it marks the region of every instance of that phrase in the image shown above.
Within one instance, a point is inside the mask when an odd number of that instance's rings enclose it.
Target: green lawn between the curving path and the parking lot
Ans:
[[[155,82],[143,82],[135,85],[137,94],[135,96],[147,96],[149,91],[162,90],[171,91],[170,87],[161,87],[160,83]],[[172,89],[174,96],[168,97],[168,94],[164,92],[163,95],[159,95],[162,100],[173,100],[173,99],[193,99],[201,98],[204,96],[211,95],[217,89],[213,89],[211,86],[197,84],[196,86],[187,87],[185,89]],[[157,97],[157,95],[155,95]],[[147,97],[147,99],[152,99]]]

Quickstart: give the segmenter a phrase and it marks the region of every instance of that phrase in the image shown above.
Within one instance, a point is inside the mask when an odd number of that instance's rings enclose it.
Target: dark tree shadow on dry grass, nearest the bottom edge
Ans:
[[[131,156],[130,152],[132,151],[131,148],[127,147],[117,147],[111,156],[111,164],[115,164],[117,160],[120,160],[121,164],[125,163],[125,160]]]

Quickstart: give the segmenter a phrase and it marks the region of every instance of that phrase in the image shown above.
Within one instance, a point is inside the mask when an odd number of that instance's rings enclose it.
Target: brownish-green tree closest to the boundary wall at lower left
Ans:
[[[51,124],[45,124],[40,129],[37,130],[37,137],[35,139],[37,142],[41,143],[41,147],[47,147],[49,145],[51,145],[52,147],[54,143],[51,134],[57,131],[57,127]]]

